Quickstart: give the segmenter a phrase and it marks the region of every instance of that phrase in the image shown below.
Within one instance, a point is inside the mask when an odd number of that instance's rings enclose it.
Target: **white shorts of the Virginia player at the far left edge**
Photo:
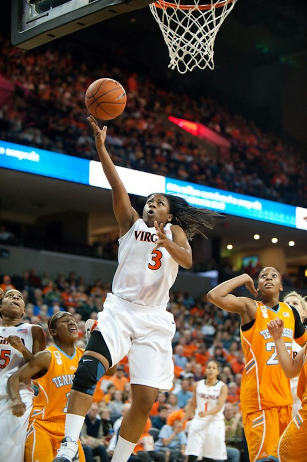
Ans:
[[[0,460],[24,462],[24,444],[32,410],[34,394],[29,390],[20,391],[21,400],[26,406],[24,415],[12,414],[12,401],[7,396],[0,399]]]

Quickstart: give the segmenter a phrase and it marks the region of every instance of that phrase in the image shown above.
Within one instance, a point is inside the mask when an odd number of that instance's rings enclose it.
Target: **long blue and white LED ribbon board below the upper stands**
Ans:
[[[0,140],[0,168],[111,189],[100,162]],[[154,189],[175,194],[195,207],[307,231],[307,208],[234,193],[154,173],[117,167],[129,194],[146,197]]]

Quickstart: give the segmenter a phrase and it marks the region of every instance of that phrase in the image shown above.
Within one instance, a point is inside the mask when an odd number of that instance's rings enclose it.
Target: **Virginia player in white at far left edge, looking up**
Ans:
[[[18,419],[12,415],[12,401],[6,385],[13,372],[46,347],[46,339],[40,326],[22,322],[24,298],[18,290],[1,291],[0,299],[0,460],[23,462],[34,393],[30,379],[20,383],[25,412],[23,418]]]

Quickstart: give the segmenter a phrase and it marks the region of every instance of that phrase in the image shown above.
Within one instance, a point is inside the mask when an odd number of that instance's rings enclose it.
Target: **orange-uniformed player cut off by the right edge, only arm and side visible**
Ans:
[[[277,317],[267,325],[274,340],[276,352],[284,373],[287,377],[300,374],[297,385],[297,395],[301,400],[301,409],[281,435],[269,460],[275,462],[306,462],[307,454],[307,361],[306,346],[292,359],[283,341],[284,321]]]

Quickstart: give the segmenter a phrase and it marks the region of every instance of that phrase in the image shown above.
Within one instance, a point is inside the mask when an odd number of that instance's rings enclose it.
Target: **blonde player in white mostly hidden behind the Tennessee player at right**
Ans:
[[[302,297],[299,293],[292,291],[287,293],[283,301],[285,303],[288,303],[291,306],[294,306],[300,315],[301,322],[304,322],[304,319],[306,317],[306,300],[304,297]],[[294,359],[297,353],[301,351],[301,346],[296,343],[295,340],[293,340],[292,343],[292,358]],[[291,386],[291,393],[292,393],[292,398],[293,398],[293,406],[292,406],[292,415],[295,416],[296,412],[300,409],[301,407],[301,400],[298,398],[296,394],[297,390],[297,383],[298,383],[298,377],[292,377],[290,380],[290,386]]]

